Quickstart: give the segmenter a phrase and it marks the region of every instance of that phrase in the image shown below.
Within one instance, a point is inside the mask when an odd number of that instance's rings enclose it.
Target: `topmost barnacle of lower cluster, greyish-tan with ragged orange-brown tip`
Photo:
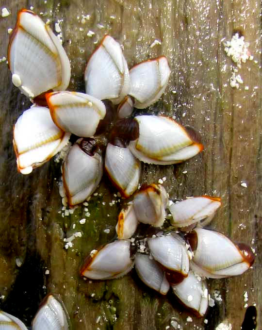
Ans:
[[[142,185],[133,199],[137,220],[154,227],[161,227],[165,220],[167,201],[167,193],[161,184]]]

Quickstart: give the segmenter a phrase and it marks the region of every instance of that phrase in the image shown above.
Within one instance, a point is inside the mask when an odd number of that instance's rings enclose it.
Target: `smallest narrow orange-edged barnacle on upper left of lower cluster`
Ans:
[[[121,210],[118,215],[118,221],[115,226],[118,239],[128,239],[136,231],[138,221],[134,212],[133,204]]]

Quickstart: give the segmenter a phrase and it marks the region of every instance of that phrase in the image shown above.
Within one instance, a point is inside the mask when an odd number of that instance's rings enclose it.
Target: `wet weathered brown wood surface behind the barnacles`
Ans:
[[[46,2],[46,3],[45,3]],[[262,160],[261,160],[261,1],[259,0],[1,0],[11,15],[0,17],[0,58],[6,57],[16,13],[33,10],[60,26],[71,61],[69,90],[84,91],[86,61],[105,33],[123,45],[129,67],[164,54],[172,73],[160,101],[147,112],[176,116],[200,132],[204,151],[180,165],[143,165],[142,182],[166,177],[170,198],[203,194],[220,196],[223,205],[212,222],[234,241],[256,250],[253,269],[242,276],[208,280],[210,294],[219,290],[204,318],[197,319],[175,301],[148,289],[133,270],[111,281],[83,281],[80,265],[95,247],[115,236],[115,224],[124,201],[110,206],[115,189],[103,179],[92,197],[90,217],[84,225],[84,207],[62,217],[57,182],[60,164],[53,160],[23,176],[16,171],[12,127],[30,101],[12,84],[6,62],[0,63],[0,309],[30,326],[41,299],[47,293],[63,300],[77,330],[213,330],[221,322],[240,329],[247,303],[256,304],[257,329],[262,328]],[[42,13],[42,14],[41,14]],[[90,15],[82,23],[82,15]],[[101,28],[101,24],[103,27]],[[94,31],[92,37],[88,31]],[[245,36],[254,56],[239,70],[244,83],[231,88],[231,59],[221,40],[235,32]],[[161,45],[150,48],[158,39]],[[39,77],[41,79],[41,77]],[[248,86],[248,90],[245,89]],[[137,113],[139,113],[137,111]],[[187,172],[184,172],[187,171]],[[184,172],[184,173],[183,173]],[[241,183],[245,182],[246,187]],[[99,196],[99,194],[101,194]],[[102,205],[102,201],[106,205]],[[64,248],[63,237],[82,231],[73,248]],[[110,229],[110,233],[105,233]],[[21,266],[16,264],[21,262]],[[46,274],[46,270],[49,274]],[[248,301],[244,302],[244,293]],[[100,319],[98,318],[100,316]],[[191,316],[193,322],[187,321]],[[204,319],[208,323],[203,322]],[[173,323],[174,324],[174,323]],[[249,323],[250,324],[250,323]],[[198,327],[198,328],[197,328]],[[245,328],[252,329],[252,328]]]

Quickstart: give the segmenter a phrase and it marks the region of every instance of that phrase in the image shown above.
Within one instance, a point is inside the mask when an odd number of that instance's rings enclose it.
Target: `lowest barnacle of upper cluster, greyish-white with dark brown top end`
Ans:
[[[96,140],[79,139],[70,148],[62,172],[68,204],[82,203],[97,189],[103,174],[103,159]]]

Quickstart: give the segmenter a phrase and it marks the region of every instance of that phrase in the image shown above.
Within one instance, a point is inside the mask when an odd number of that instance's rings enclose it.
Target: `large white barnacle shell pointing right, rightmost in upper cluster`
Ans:
[[[139,137],[129,144],[140,161],[156,165],[181,163],[203,150],[196,132],[172,118],[156,115],[134,117],[139,125]]]

